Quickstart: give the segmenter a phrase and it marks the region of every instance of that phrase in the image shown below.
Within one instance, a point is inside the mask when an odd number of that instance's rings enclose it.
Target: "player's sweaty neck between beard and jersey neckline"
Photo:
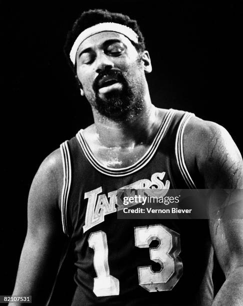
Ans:
[[[157,110],[149,93],[144,96],[143,108],[138,114],[130,114],[123,121],[115,121],[100,115],[93,108],[95,134],[102,146],[131,148],[149,142],[158,128]]]

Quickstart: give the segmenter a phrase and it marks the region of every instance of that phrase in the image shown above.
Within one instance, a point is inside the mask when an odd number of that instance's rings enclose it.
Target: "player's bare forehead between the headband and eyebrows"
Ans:
[[[133,46],[130,39],[125,35],[112,31],[104,31],[96,33],[88,38],[86,38],[78,47],[78,51],[81,51],[86,48],[95,48],[101,46],[107,40],[118,39],[126,46]]]

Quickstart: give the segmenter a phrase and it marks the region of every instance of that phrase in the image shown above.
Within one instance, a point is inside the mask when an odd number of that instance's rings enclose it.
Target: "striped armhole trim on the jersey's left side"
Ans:
[[[63,142],[60,145],[63,161],[63,189],[61,198],[61,215],[63,232],[68,235],[68,224],[67,224],[67,204],[68,196],[71,186],[72,171],[71,171],[71,159],[68,147],[68,141]]]

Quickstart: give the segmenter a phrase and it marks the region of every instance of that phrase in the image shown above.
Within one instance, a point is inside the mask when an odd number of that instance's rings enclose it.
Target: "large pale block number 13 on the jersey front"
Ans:
[[[161,224],[135,227],[135,246],[149,247],[157,240],[157,247],[150,247],[150,259],[160,263],[161,269],[153,272],[151,265],[138,267],[139,285],[149,292],[171,290],[182,275],[183,265],[180,253],[180,235]],[[96,296],[119,294],[119,280],[110,275],[106,233],[102,230],[90,234],[89,246],[94,249],[94,279]]]

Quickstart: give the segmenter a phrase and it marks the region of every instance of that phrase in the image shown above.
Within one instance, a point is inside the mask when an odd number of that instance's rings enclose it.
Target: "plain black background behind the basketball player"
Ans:
[[[90,0],[1,3],[2,178],[0,295],[11,294],[27,228],[27,199],[42,160],[92,123],[63,45],[67,31],[89,8],[107,8],[138,20],[152,59],[152,102],[194,112],[223,125],[242,151],[242,48],[235,2]],[[3,67],[6,66],[6,71]],[[72,295],[71,255],[53,304]],[[63,297],[58,296],[62,289]]]

